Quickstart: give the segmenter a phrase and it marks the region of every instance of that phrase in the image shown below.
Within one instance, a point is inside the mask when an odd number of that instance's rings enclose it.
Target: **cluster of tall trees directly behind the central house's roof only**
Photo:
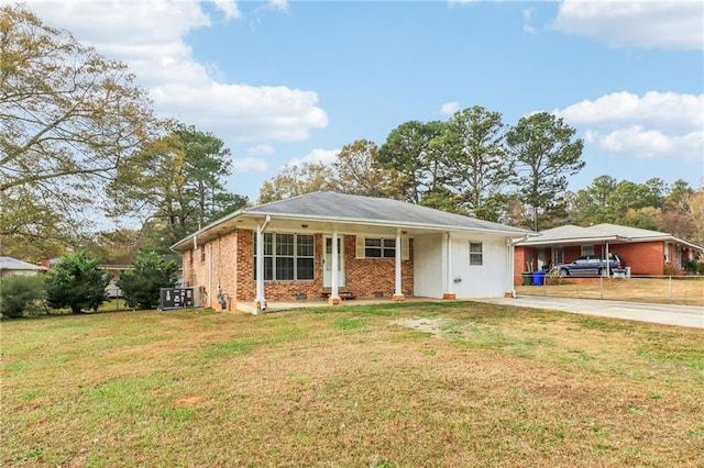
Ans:
[[[509,126],[480,105],[448,121],[409,121],[381,145],[360,140],[337,159],[284,168],[266,181],[260,201],[310,190],[388,197],[488,221],[510,222],[518,202],[531,226],[560,210],[568,177],[584,167],[575,130],[547,112]]]

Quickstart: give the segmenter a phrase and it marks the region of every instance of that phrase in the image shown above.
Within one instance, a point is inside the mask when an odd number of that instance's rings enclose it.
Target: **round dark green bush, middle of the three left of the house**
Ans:
[[[98,269],[100,259],[85,252],[66,254],[61,264],[48,270],[46,299],[52,308],[96,311],[106,301],[110,275]]]

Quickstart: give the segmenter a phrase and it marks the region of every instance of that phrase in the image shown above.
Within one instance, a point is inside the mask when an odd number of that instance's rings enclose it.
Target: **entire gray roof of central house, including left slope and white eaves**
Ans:
[[[222,225],[230,225],[233,220],[264,219],[266,215],[272,219],[297,220],[299,222],[384,225],[429,231],[484,232],[506,237],[535,234],[532,231],[526,231],[520,227],[448,213],[399,200],[318,191],[244,208],[179,241],[172,248],[185,248],[194,236],[197,236],[198,239],[201,238],[201,235],[208,238],[208,233],[213,232],[216,229],[221,234],[223,233]]]

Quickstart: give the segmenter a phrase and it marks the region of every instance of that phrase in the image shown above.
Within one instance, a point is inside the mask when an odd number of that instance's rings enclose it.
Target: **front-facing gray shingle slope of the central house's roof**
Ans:
[[[520,227],[448,213],[399,200],[361,197],[336,192],[312,192],[287,200],[274,201],[243,213],[296,215],[310,219],[334,219],[341,222],[375,221],[392,225],[433,226],[512,233],[531,233]]]

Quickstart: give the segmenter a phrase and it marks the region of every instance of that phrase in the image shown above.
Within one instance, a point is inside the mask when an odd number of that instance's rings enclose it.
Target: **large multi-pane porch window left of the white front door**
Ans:
[[[264,280],[309,281],[315,278],[315,236],[264,233]],[[256,234],[254,233],[254,278]]]

